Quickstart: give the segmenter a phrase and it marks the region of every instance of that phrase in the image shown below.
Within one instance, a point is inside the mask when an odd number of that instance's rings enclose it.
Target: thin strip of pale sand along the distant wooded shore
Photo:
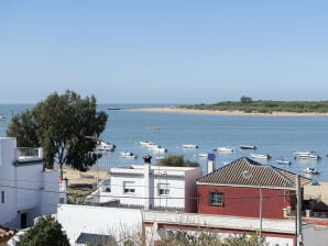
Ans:
[[[294,113],[294,112],[245,113],[242,111],[193,110],[193,109],[182,109],[182,108],[176,108],[176,107],[124,109],[124,111],[230,115],[230,116],[328,116],[328,113]]]

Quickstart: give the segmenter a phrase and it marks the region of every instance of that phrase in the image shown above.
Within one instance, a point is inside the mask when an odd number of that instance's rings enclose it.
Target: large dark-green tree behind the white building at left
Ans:
[[[80,96],[67,90],[56,92],[39,102],[32,110],[14,115],[7,135],[17,137],[22,147],[43,147],[45,167],[54,163],[86,171],[98,156],[92,155],[97,137],[103,132],[108,115],[97,112],[95,97]]]

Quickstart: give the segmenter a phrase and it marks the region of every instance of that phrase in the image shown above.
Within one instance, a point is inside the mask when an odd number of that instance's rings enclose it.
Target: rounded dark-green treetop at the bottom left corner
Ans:
[[[19,246],[69,246],[62,225],[52,216],[40,217],[36,224],[20,236]]]

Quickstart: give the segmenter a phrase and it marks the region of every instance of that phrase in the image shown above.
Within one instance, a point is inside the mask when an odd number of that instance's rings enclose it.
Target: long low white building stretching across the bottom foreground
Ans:
[[[57,220],[72,245],[81,234],[113,236],[118,245],[130,239],[154,245],[170,239],[175,232],[185,231],[195,237],[217,233],[220,237],[252,234],[259,230],[259,219],[198,213],[142,211],[122,208],[58,204]],[[303,224],[304,245],[326,246],[328,227]],[[295,243],[294,220],[263,220],[265,245],[291,246]]]

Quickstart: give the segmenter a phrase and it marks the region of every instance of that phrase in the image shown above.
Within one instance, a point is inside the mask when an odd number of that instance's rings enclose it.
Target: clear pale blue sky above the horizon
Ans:
[[[0,103],[328,99],[327,1],[0,0]]]

